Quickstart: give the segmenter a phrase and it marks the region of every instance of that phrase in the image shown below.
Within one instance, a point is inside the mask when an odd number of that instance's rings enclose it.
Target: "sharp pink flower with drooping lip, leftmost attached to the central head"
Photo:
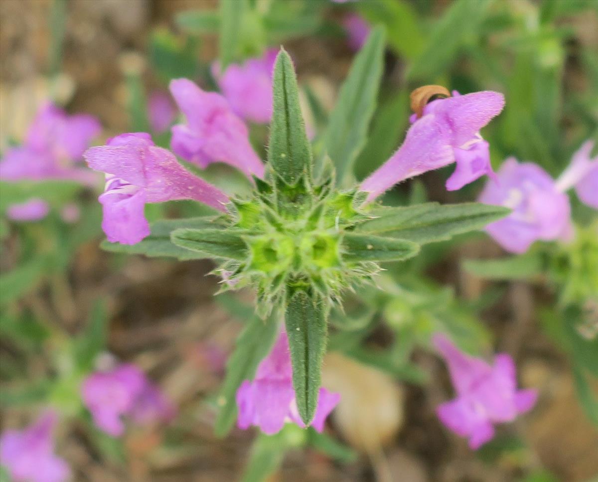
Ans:
[[[102,229],[111,242],[134,245],[148,236],[145,203],[194,199],[224,211],[228,202],[222,191],[185,170],[172,152],[156,147],[145,132],[116,136],[105,146],[87,150],[84,157],[91,169],[106,173],[99,201]]]

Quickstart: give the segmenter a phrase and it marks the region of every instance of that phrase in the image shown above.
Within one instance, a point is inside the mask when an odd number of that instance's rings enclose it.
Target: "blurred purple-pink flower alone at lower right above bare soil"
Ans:
[[[435,335],[434,345],[449,367],[456,398],[437,408],[441,422],[478,449],[495,435],[494,425],[512,422],[530,410],[538,393],[518,390],[515,364],[511,356],[496,355],[493,366],[480,358],[460,352],[444,335]]]

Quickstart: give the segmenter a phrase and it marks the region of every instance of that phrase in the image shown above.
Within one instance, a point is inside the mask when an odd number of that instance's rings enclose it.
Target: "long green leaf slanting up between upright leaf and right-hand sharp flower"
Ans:
[[[325,153],[337,170],[339,184],[352,177],[353,163],[367,141],[370,120],[382,77],[385,34],[382,27],[370,33],[338,94],[325,134]]]

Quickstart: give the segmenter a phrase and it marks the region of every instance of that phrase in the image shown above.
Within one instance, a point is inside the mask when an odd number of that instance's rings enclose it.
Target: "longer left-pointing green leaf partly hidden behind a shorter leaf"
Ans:
[[[151,234],[136,245],[121,245],[103,241],[100,247],[106,251],[126,254],[144,254],[150,258],[172,257],[178,260],[200,260],[205,254],[181,248],[170,241],[170,233],[179,228],[214,228],[217,221],[209,216],[185,219],[164,219],[150,225]]]

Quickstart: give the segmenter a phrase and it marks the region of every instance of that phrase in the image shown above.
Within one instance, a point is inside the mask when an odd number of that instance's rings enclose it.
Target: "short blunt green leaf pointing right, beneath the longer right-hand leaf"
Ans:
[[[419,252],[417,243],[372,234],[347,233],[343,237],[343,261],[402,261]]]

